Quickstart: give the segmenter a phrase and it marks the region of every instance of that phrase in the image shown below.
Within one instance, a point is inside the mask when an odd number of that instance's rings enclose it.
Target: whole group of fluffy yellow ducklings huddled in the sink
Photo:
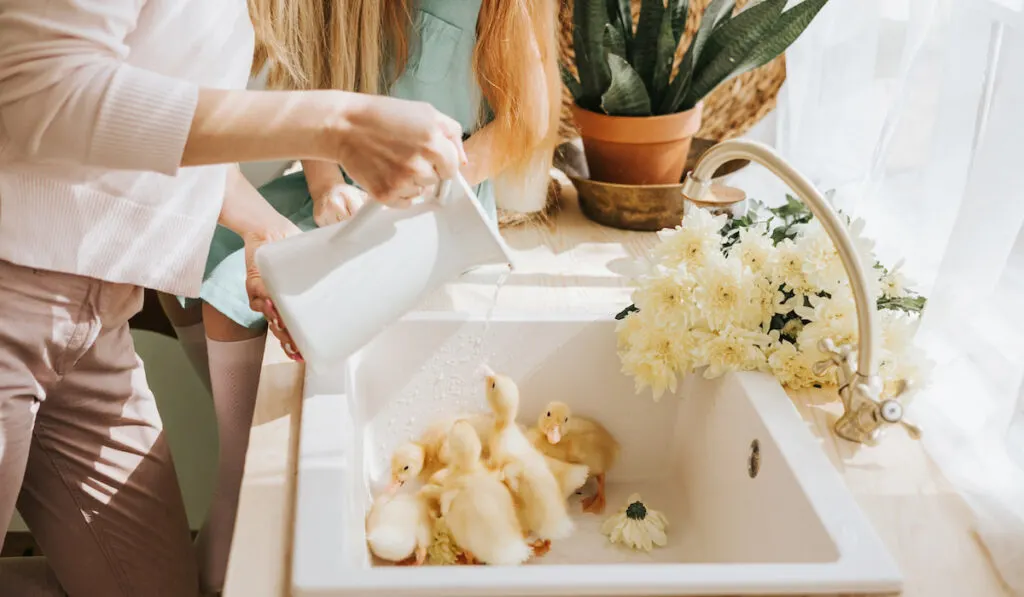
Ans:
[[[515,422],[515,382],[488,372],[485,384],[490,413],[435,423],[392,455],[391,484],[367,518],[367,541],[378,557],[416,565],[428,554],[430,563],[521,564],[572,532],[568,498],[590,476],[597,492],[583,509],[604,510],[604,475],[618,456],[611,433],[562,402],[548,404],[527,429]],[[424,484],[403,491],[414,481]]]

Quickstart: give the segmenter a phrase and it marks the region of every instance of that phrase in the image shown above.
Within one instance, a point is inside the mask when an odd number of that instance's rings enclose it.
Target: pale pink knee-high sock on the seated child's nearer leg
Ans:
[[[239,342],[207,339],[220,449],[213,501],[197,538],[200,584],[206,592],[220,591],[224,584],[265,343],[265,336]]]

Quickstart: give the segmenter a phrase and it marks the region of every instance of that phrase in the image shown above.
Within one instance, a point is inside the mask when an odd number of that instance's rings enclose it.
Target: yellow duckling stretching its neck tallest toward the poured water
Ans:
[[[486,395],[495,412],[492,461],[501,468],[516,495],[523,526],[540,540],[535,549],[543,553],[552,541],[572,532],[565,495],[544,455],[515,423],[519,411],[519,388],[515,382],[503,375],[488,375]]]

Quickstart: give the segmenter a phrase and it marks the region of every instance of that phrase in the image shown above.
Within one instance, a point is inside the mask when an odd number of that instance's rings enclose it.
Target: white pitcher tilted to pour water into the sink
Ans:
[[[371,201],[346,222],[265,245],[256,265],[307,365],[365,346],[428,293],[481,265],[512,265],[462,175],[407,209]]]

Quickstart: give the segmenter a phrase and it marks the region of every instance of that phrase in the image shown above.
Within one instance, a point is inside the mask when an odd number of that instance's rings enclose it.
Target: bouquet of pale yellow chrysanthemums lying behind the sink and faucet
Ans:
[[[778,208],[757,202],[742,218],[693,209],[662,243],[638,280],[634,304],[620,319],[623,371],[654,399],[675,392],[696,370],[707,378],[729,371],[764,371],[790,388],[836,384],[836,371],[815,375],[827,358],[821,339],[857,341],[853,294],[831,239],[810,211],[787,198]],[[925,298],[907,288],[901,263],[887,268],[864,239],[863,221],[848,222],[860,259],[872,264],[869,291],[882,328],[880,374],[885,391],[905,379],[921,383],[929,369],[912,344]]]

